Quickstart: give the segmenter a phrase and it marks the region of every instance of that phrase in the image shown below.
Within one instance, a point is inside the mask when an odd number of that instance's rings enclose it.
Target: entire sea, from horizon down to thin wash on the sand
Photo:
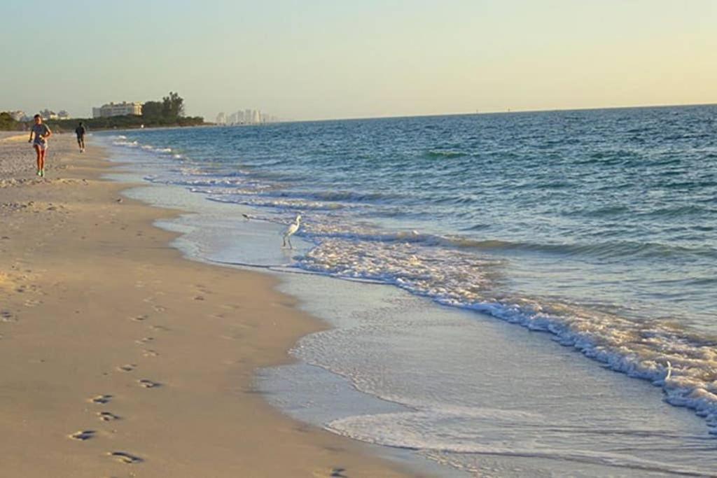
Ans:
[[[717,469],[717,106],[94,138],[334,325],[260,377],[288,413],[446,474]]]

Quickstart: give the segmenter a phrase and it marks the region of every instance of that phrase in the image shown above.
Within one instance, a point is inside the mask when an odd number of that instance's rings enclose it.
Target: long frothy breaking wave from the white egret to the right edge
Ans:
[[[476,310],[530,330],[614,371],[660,386],[665,401],[693,408],[717,434],[717,338],[666,322],[630,320],[568,302],[498,293],[500,262],[407,242],[323,239],[297,267],[354,279],[378,280],[452,307]],[[671,364],[671,365],[668,365]]]

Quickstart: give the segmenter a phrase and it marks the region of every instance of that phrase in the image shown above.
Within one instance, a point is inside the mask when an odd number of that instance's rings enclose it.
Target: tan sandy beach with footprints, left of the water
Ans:
[[[3,139],[3,138],[0,138]],[[252,388],[321,325],[274,279],[183,259],[108,163],[0,141],[1,477],[398,477]]]

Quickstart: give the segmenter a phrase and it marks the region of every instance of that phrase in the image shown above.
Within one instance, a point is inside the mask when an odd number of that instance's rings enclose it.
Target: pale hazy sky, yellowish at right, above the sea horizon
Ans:
[[[0,111],[313,120],[717,102],[717,0],[0,0]]]

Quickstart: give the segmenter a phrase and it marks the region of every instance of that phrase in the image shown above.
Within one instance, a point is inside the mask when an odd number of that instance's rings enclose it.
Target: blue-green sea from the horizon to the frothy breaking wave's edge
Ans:
[[[148,181],[302,214],[295,268],[544,330],[717,429],[716,106],[103,134]]]

